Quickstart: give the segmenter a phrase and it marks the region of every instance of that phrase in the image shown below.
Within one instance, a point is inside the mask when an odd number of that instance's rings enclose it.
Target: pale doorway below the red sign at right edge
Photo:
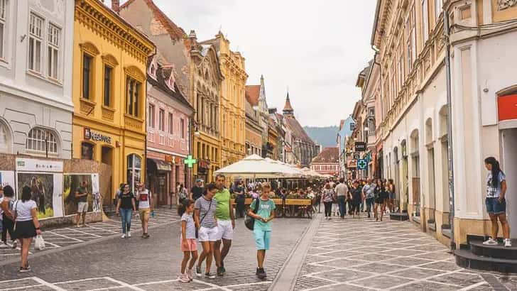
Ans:
[[[503,172],[506,174],[506,181],[517,181],[517,128],[501,131],[503,138]],[[506,199],[506,211],[510,222],[510,236],[517,237],[517,202],[515,185],[508,185],[510,191],[506,191],[509,199]]]

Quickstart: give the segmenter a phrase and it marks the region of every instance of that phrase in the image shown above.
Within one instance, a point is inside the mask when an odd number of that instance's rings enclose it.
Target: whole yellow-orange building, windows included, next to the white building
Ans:
[[[145,177],[146,63],[153,50],[101,1],[75,1],[72,157],[111,166],[111,197],[119,183]]]

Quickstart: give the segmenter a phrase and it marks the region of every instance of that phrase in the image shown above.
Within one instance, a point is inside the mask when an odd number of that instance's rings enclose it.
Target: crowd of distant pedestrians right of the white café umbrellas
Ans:
[[[343,178],[339,179],[338,182],[328,180],[325,182],[320,196],[320,202],[325,207],[325,219],[332,219],[333,207],[337,208],[339,216],[344,219],[347,213],[359,217],[360,212],[365,211],[364,204],[366,204],[365,212],[367,212],[369,218],[371,212],[374,212],[376,221],[382,221],[386,209],[389,209],[390,212],[395,210],[393,204],[395,185],[393,185],[391,179],[366,179],[347,182]]]

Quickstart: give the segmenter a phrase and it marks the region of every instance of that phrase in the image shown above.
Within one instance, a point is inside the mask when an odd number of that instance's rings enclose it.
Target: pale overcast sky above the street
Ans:
[[[186,33],[194,29],[198,40],[222,28],[232,50],[246,57],[248,84],[263,75],[268,106],[279,110],[289,88],[303,126],[337,125],[352,114],[360,98],[357,75],[374,55],[376,0],[154,2]]]

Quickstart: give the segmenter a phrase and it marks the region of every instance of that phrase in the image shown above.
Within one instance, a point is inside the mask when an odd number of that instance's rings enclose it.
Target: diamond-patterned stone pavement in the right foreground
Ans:
[[[516,290],[516,282],[459,268],[409,221],[347,217],[320,222],[295,290]]]

